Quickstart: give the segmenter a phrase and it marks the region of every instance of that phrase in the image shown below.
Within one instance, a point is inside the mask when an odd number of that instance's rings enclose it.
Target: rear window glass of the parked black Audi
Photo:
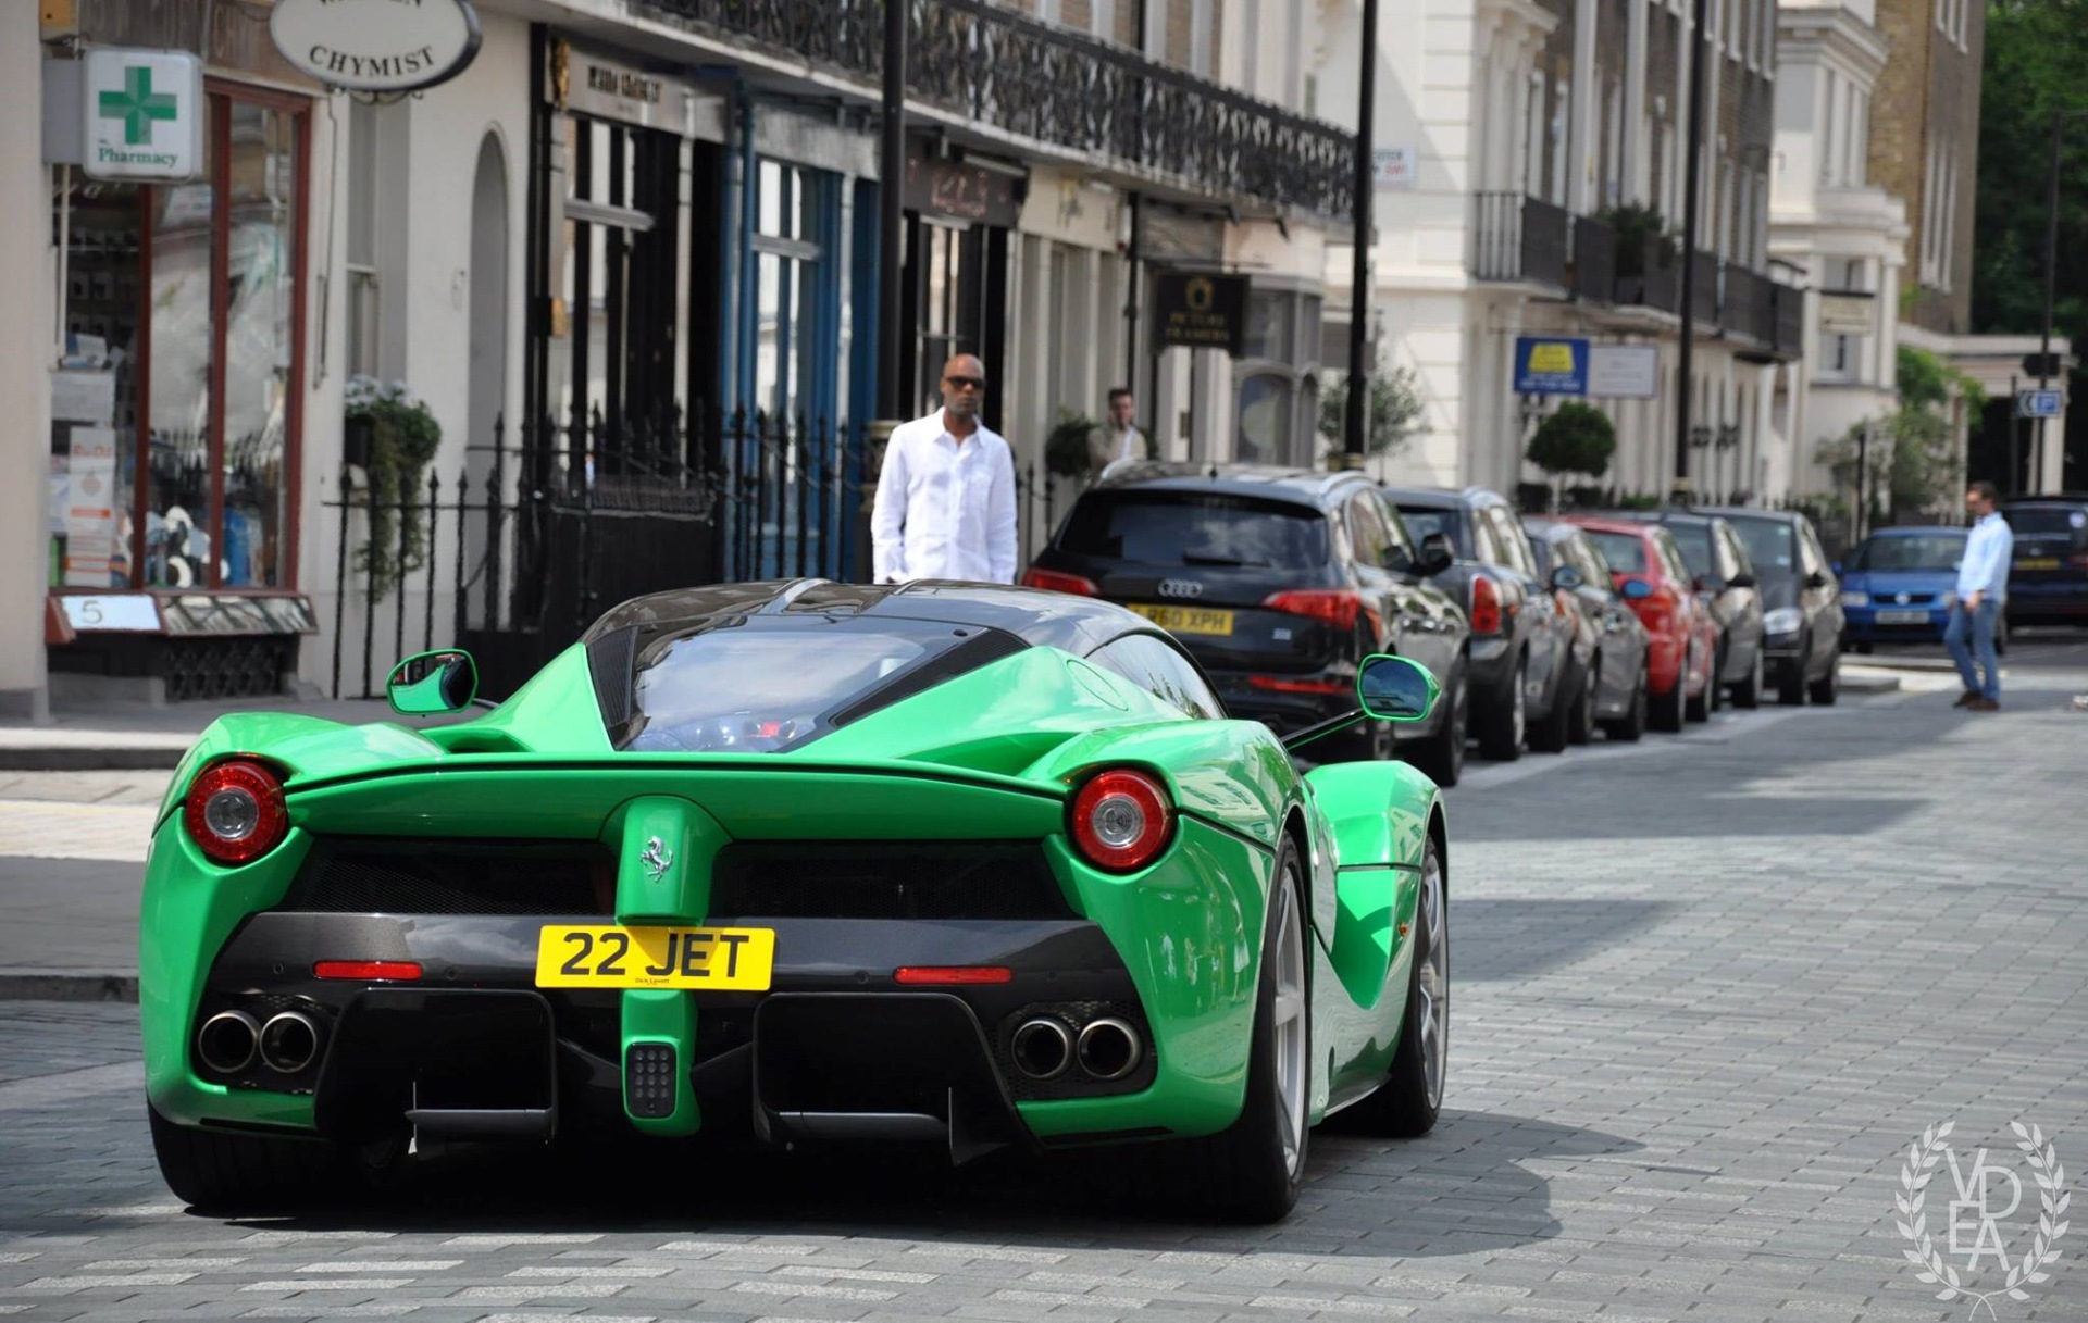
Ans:
[[[1140,566],[1318,570],[1328,561],[1328,530],[1320,511],[1297,505],[1090,495],[1067,518],[1059,549]]]

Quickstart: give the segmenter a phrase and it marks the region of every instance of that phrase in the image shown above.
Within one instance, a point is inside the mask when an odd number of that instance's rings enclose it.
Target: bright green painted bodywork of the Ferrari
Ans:
[[[219,868],[180,814],[211,762],[246,753],[284,774],[290,837]],[[1071,787],[1098,766],[1165,778],[1180,816],[1142,872],[1086,866],[1065,835]],[[1186,720],[1144,689],[1034,647],[877,709],[789,753],[618,753],[583,649],[507,703],[411,730],[280,714],[228,716],[175,772],[146,862],[140,1020],[146,1089],[182,1123],[311,1125],[311,1100],[207,1085],[188,1068],[205,977],[240,920],[280,904],[315,835],[603,841],[618,858],[618,922],[702,922],[729,841],[1036,839],[1067,901],[1096,922],[1144,1006],[1159,1060],[1138,1093],[1021,1102],[1042,1137],[1159,1127],[1213,1133],[1240,1112],[1278,835],[1307,866],[1313,1118],[1382,1079],[1405,1010],[1416,870],[1434,785],[1405,764],[1330,764],[1299,776],[1257,722]],[[654,879],[651,839],[670,851]],[[779,960],[787,954],[779,952]],[[689,1060],[704,993],[626,991],[622,1039]],[[685,1096],[645,1133],[699,1127]]]

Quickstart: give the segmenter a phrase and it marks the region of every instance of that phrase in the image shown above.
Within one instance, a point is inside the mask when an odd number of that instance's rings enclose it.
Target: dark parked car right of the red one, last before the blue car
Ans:
[[[1796,705],[1810,695],[1814,703],[1833,703],[1842,693],[1842,582],[1812,520],[1787,509],[1695,507],[1695,513],[1718,515],[1748,547],[1762,595],[1764,670],[1777,701]]]

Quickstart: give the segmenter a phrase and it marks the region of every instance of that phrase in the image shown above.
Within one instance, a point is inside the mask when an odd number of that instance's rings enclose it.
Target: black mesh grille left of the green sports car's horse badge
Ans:
[[[322,841],[284,910],[324,914],[601,914],[614,858],[599,845]],[[606,887],[597,893],[597,881]]]

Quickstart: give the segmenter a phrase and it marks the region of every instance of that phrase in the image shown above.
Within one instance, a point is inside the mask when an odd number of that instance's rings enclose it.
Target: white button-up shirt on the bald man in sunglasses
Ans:
[[[1015,582],[1015,455],[979,424],[958,440],[942,409],[892,430],[871,511],[877,582]]]

